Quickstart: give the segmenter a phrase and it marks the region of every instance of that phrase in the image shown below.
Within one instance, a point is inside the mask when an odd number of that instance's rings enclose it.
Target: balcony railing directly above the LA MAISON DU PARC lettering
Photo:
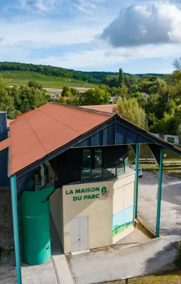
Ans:
[[[81,169],[81,180],[108,180],[125,173],[126,163],[109,168]]]

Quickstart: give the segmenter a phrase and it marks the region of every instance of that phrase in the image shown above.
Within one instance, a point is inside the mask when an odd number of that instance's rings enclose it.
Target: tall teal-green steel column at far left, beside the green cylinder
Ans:
[[[11,201],[13,211],[13,236],[16,256],[16,273],[17,273],[17,284],[21,284],[21,259],[20,259],[20,248],[19,248],[19,232],[18,232],[18,207],[17,207],[17,196],[16,196],[16,175],[11,176]]]

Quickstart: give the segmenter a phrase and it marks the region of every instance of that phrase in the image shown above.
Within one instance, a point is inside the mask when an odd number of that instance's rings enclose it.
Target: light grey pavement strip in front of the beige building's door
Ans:
[[[127,249],[111,248],[72,256],[70,268],[77,284],[102,283],[153,273],[172,263],[176,255],[177,249],[170,239],[153,239]]]

